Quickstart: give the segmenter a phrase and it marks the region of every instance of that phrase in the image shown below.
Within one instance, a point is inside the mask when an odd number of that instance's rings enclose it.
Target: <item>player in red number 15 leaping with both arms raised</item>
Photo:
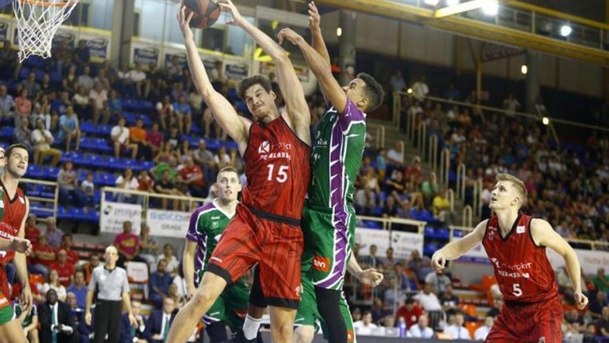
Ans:
[[[233,105],[213,89],[189,26],[192,14],[187,16],[185,8],[180,8],[178,21],[194,84],[215,120],[237,142],[246,165],[247,186],[197,292],[176,316],[167,342],[185,342],[224,288],[258,263],[270,306],[273,342],[288,343],[300,300],[300,216],[311,154],[309,107],[286,51],[244,19],[232,2],[220,0],[219,5],[231,12],[232,24],[243,28],[273,59],[287,110],[278,111],[271,82],[253,76],[237,88],[254,122],[238,116]]]

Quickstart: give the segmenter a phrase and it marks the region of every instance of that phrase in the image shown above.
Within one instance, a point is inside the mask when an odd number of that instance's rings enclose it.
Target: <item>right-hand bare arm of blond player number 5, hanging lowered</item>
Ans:
[[[588,298],[581,292],[581,266],[575,254],[575,250],[564,240],[561,235],[556,233],[549,222],[543,219],[531,221],[531,238],[536,245],[549,247],[550,249],[563,256],[567,273],[573,283],[574,294],[577,308],[580,310],[588,304]]]

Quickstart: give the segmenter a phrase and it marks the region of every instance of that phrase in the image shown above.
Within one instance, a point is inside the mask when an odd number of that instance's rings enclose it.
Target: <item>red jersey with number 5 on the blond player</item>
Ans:
[[[531,235],[531,216],[518,214],[516,222],[504,237],[497,216],[487,222],[482,245],[487,251],[495,277],[507,301],[535,303],[552,299],[558,285],[545,247],[536,245]]]

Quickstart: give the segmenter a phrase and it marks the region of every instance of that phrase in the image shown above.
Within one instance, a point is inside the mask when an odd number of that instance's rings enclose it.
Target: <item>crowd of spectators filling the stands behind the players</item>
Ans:
[[[97,150],[82,145],[89,137],[102,139],[106,161],[109,158],[134,161],[132,166],[113,169],[118,171],[113,175],[117,188],[205,198],[211,196],[210,184],[217,170],[233,166],[243,171],[237,147],[213,121],[192,84],[188,68],[178,58],[172,58],[165,68],[136,63],[133,68],[123,64],[113,69],[108,63],[92,63],[87,46],[71,50],[62,44],[50,62],[28,67],[25,72],[26,67],[15,62],[16,53],[10,50],[10,44],[6,42],[4,46],[0,52],[4,80],[0,85],[0,121],[14,127],[13,141],[26,143],[32,156],[30,164],[57,166],[62,162],[56,176],[62,206],[92,209],[98,206],[98,172],[66,158],[74,156],[73,152],[93,155],[91,151]],[[221,64],[216,64],[209,74],[216,89],[233,102],[239,113],[247,115],[224,78]],[[415,116],[417,127],[426,123],[428,137],[436,135],[440,149],[450,151],[451,171],[460,163],[466,165],[466,202],[472,202],[473,184],[482,179],[483,217],[488,215],[486,205],[490,202],[494,175],[512,173],[527,185],[529,202],[523,211],[554,223],[556,231],[565,238],[609,240],[608,139],[593,133],[583,144],[556,145],[546,127],[539,123],[517,116],[483,113],[476,107],[447,107],[426,100],[433,92],[424,78],[408,85],[396,73],[388,85],[393,90],[412,89],[410,95],[400,99],[401,123],[408,123],[409,115]],[[453,88],[444,97],[478,102],[475,93],[462,98],[460,91]],[[141,107],[137,115],[126,110],[134,102]],[[278,103],[281,105],[281,99]],[[313,95],[309,106],[311,131],[315,132],[325,104],[320,96]],[[504,107],[511,114],[521,105],[510,94]],[[536,110],[539,114],[545,112],[540,99]],[[134,168],[151,161],[145,168]],[[354,206],[360,214],[412,219],[417,213],[427,212],[434,220],[448,225],[454,220],[446,188],[437,182],[434,173],[421,171],[419,157],[407,160],[399,142],[387,150],[368,147],[355,186]],[[117,193],[113,200],[143,202],[141,196],[125,193]],[[185,209],[179,200],[163,199],[152,205]],[[129,331],[129,335],[151,342],[153,336],[163,337],[158,318],[184,303],[185,288],[174,247],[161,248],[149,236],[147,227],[142,228],[139,236],[132,229],[131,223],[125,222],[124,231],[113,244],[120,254],[119,265],[134,261],[149,266],[148,295],[143,301],[160,312],[146,318],[138,313],[142,303],[133,301],[140,326],[136,333]],[[35,216],[30,216],[26,237],[34,243],[28,270],[40,275],[33,278],[37,304],[42,307],[58,302],[69,306],[74,316],[66,317],[62,332],[78,333],[82,342],[87,342],[91,328],[79,316],[91,270],[102,263],[100,256],[94,254],[89,261],[79,261],[72,249],[72,236],[56,227],[53,218],[47,218],[46,229],[39,230]],[[458,292],[453,287],[454,276],[435,274],[427,256],[415,251],[407,261],[399,261],[393,257],[392,249],[385,252],[384,258],[376,256],[376,247],[369,249],[368,254],[359,256],[359,247],[355,247],[354,254],[362,267],[381,270],[385,281],[374,290],[372,306],[354,307],[358,333],[374,333],[376,326],[396,328],[400,335],[410,337],[444,334],[478,339],[488,333],[502,306],[500,296],[491,298],[489,305],[493,307],[485,317],[467,313],[462,306],[464,302],[455,295]],[[570,283],[565,277],[565,271],[559,270],[557,280],[565,297],[565,333],[582,334],[590,342],[594,335],[609,337],[609,275],[599,270],[597,276],[588,280],[591,303],[584,312],[574,309]],[[351,290],[351,295],[365,299],[363,291]],[[42,326],[25,320],[27,314],[22,316],[28,335],[36,331],[41,337],[46,335],[48,316],[42,313],[39,309],[37,320]],[[46,324],[42,323],[43,318]],[[475,323],[476,329],[466,329],[473,327],[468,323]],[[152,328],[156,331],[151,331]]]

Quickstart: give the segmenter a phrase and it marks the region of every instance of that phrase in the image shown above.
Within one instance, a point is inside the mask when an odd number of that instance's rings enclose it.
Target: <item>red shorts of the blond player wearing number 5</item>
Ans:
[[[490,343],[561,343],[563,303],[556,296],[533,304],[505,302],[491,332]]]

